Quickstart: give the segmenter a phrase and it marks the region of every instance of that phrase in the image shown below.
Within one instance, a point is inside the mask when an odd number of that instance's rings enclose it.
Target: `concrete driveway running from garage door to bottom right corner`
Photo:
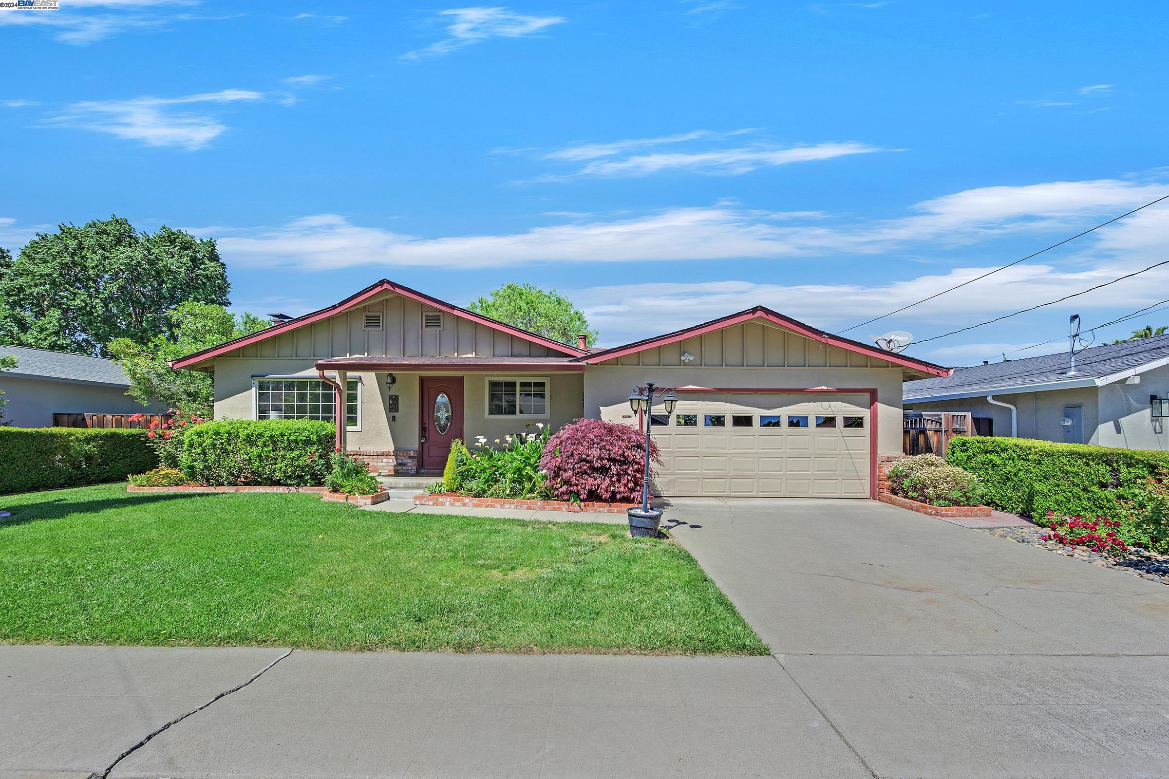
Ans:
[[[876,775],[1169,775],[1165,585],[870,501],[667,516]]]

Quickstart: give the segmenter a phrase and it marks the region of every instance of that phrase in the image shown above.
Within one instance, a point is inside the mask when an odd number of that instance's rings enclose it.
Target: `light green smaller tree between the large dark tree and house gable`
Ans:
[[[195,370],[175,370],[167,361],[270,325],[254,314],[233,315],[223,306],[187,301],[167,312],[172,338],[155,335],[145,343],[129,338],[115,339],[109,350],[130,378],[127,395],[143,403],[161,401],[172,409],[182,409],[187,416],[209,417],[215,399],[212,376]]]

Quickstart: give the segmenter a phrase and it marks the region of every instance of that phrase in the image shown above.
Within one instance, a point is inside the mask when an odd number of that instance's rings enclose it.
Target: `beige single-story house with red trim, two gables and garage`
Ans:
[[[399,473],[440,471],[455,438],[638,425],[629,395],[652,381],[678,397],[653,409],[663,493],[825,498],[876,494],[901,382],[949,373],[763,307],[589,352],[387,280],[172,364],[214,371],[216,418],[334,419],[339,382],[339,445]]]

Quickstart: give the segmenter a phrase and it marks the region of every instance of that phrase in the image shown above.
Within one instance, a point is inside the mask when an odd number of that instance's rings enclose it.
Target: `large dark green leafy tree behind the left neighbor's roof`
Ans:
[[[61,224],[16,258],[0,251],[0,342],[108,356],[113,339],[172,335],[185,300],[228,305],[229,288],[212,239],[118,216]]]

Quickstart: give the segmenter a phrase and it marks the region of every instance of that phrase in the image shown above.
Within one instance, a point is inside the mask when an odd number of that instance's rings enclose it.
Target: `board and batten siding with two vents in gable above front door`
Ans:
[[[442,313],[441,331],[422,328],[426,313]],[[366,314],[381,314],[381,329],[366,329]],[[388,294],[364,306],[236,349],[233,357],[267,360],[328,357],[547,357],[540,343]]]

